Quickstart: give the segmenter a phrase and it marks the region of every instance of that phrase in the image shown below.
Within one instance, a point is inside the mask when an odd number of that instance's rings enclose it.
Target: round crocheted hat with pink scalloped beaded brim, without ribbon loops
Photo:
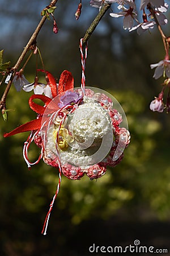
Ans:
[[[91,179],[101,177],[107,166],[122,160],[130,141],[129,131],[120,127],[122,115],[113,109],[111,98],[103,90],[94,88],[100,91],[95,93],[92,89],[82,92],[75,88],[54,98],[34,138],[37,146],[44,148],[44,162],[60,165],[69,179],[80,179],[84,174]],[[60,109],[55,111],[53,106]]]

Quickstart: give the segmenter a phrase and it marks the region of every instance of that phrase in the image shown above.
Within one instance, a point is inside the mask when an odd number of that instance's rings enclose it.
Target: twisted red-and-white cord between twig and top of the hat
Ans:
[[[82,92],[84,96],[84,90],[85,90],[85,83],[86,83],[86,77],[85,77],[85,68],[86,68],[86,59],[87,59],[87,49],[88,49],[88,43],[86,43],[85,52],[83,53],[83,38],[80,39],[80,53],[81,53],[81,60],[82,60]]]

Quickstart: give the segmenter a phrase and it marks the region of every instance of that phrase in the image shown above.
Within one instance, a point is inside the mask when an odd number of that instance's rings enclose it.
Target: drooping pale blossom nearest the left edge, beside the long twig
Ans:
[[[12,75],[12,73],[7,76],[7,78],[5,80],[5,84],[8,84],[8,81],[10,81],[11,75]],[[12,82],[13,82],[17,92],[20,92],[20,90],[23,88],[23,86],[25,84],[29,83],[29,81],[27,79],[25,79],[25,76],[23,75],[22,70],[15,73],[15,76],[14,76],[14,79]]]

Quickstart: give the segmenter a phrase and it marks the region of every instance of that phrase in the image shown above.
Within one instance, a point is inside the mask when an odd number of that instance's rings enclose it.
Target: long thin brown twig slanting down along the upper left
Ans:
[[[53,7],[56,5],[58,0],[52,0],[50,2],[50,5],[48,7]],[[28,43],[27,45],[24,47],[24,50],[23,52],[21,53],[21,55],[19,56],[19,59],[16,61],[15,65],[13,68],[11,68],[11,71],[12,71],[12,75],[11,75],[11,78],[10,78],[10,81],[8,82],[7,86],[6,86],[6,89],[5,89],[5,92],[3,93],[3,96],[1,98],[1,101],[0,101],[0,109],[5,109],[6,107],[6,97],[7,97],[7,94],[11,88],[11,84],[12,84],[12,80],[14,79],[14,76],[15,76],[15,73],[17,71],[17,69],[19,68],[19,65],[22,63],[26,53],[29,51],[30,47],[36,43],[36,38],[37,38],[37,35],[39,34],[42,26],[44,25],[44,22],[46,20],[46,16],[43,16],[38,24],[38,26],[36,27],[35,31],[33,32],[31,38],[28,40]]]

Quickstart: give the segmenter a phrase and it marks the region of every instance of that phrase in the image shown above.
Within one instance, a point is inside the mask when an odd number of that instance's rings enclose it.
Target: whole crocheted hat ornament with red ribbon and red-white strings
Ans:
[[[43,234],[46,234],[50,212],[59,192],[61,174],[73,180],[81,179],[84,174],[90,179],[98,179],[105,174],[107,166],[114,167],[120,163],[130,142],[126,116],[116,99],[101,89],[85,87],[87,47],[84,58],[82,40],[80,51],[81,87],[74,89],[74,79],[69,71],[63,71],[59,84],[56,84],[50,72],[41,70],[48,76],[52,98],[32,95],[29,106],[37,113],[37,118],[4,135],[8,137],[31,131],[23,147],[28,168],[42,158],[46,164],[59,170],[57,191],[46,215]],[[44,102],[44,106],[36,104],[35,99]],[[39,159],[34,163],[28,159],[32,142],[41,148]]]

